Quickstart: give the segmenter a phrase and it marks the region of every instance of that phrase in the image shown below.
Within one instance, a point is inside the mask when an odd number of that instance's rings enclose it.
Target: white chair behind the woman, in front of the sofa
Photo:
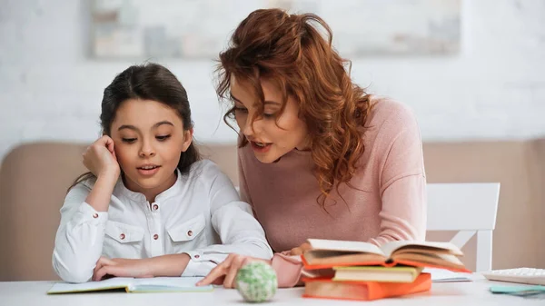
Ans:
[[[500,183],[428,183],[428,231],[458,231],[459,248],[477,234],[476,271],[492,269]]]

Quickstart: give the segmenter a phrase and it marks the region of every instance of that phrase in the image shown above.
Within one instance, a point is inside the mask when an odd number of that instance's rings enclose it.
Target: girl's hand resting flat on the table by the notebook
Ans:
[[[93,281],[101,281],[106,275],[135,278],[154,277],[151,265],[147,259],[108,259],[101,256],[94,267]]]

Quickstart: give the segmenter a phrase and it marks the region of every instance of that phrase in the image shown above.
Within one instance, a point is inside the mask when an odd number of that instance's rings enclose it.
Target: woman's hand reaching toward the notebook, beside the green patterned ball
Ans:
[[[271,264],[271,261],[266,261],[260,258],[243,256],[239,254],[229,254],[222,263],[213,268],[203,280],[197,282],[197,286],[206,286],[211,283],[219,285],[223,282],[223,287],[234,288],[234,278],[236,273],[249,262],[266,262]]]

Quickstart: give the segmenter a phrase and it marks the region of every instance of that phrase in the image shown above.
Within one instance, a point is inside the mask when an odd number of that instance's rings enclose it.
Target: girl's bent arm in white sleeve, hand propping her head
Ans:
[[[70,282],[89,281],[102,254],[107,211],[120,173],[112,139],[103,136],[89,146],[84,165],[96,180],[68,192],[54,241],[53,269]]]

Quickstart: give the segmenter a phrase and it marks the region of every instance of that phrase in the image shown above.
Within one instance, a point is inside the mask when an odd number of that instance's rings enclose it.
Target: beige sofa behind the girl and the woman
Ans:
[[[84,172],[81,143],[28,143],[0,167],[0,281],[54,280],[51,253],[66,188]],[[234,145],[201,145],[236,184]],[[429,183],[500,182],[493,268],[545,268],[545,139],[424,143]],[[428,240],[452,233],[430,232]],[[475,243],[465,248],[474,268]]]

